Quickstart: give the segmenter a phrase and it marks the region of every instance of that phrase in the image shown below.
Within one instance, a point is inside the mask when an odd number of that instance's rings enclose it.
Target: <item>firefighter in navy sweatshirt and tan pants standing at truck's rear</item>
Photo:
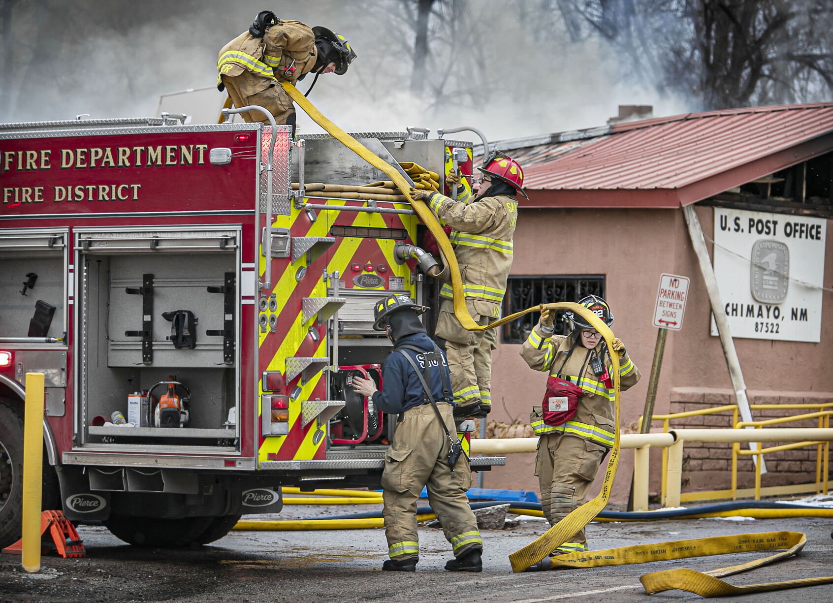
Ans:
[[[416,501],[423,487],[451,542],[448,571],[481,571],[483,541],[466,498],[471,469],[457,440],[448,363],[427,336],[417,306],[407,295],[385,297],[373,306],[373,328],[386,331],[393,352],[382,367],[383,391],[372,379],[353,377],[352,386],[380,410],[398,415],[385,453],[382,501],[390,559],[387,571],[416,571]]]

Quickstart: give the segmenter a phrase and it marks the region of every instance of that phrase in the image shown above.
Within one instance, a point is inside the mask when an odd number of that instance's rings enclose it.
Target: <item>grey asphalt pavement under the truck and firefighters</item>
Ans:
[[[286,506],[281,519],[341,515],[378,509],[365,506]],[[252,516],[252,519],[262,516]],[[546,531],[545,521],[521,519],[511,529],[483,531],[484,570],[455,574],[443,569],[451,546],[440,529],[421,526],[415,573],[382,572],[387,544],[382,529],[349,531],[232,531],[197,550],[147,550],[127,546],[102,526],[79,526],[87,549],[82,559],[42,557],[42,571],[26,574],[20,558],[0,556],[0,601],[68,603],[93,601],[680,601],[700,599],[685,591],[647,596],[639,576],[671,567],[708,571],[751,561],[740,553],[639,566],[513,574],[508,556]],[[833,521],[672,520],[593,523],[587,536],[595,550],[648,542],[762,531],[802,531],[808,543],[799,556],[730,576],[736,585],[833,576]],[[833,585],[776,591],[724,601],[781,603],[833,601]]]

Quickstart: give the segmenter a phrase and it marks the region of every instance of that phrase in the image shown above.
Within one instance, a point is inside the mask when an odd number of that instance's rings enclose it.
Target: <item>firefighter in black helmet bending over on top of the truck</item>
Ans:
[[[265,107],[278,125],[289,124],[294,131],[295,106],[280,82],[294,86],[308,72],[315,72],[312,90],[319,75],[343,75],[354,58],[350,43],[327,27],[308,27],[261,11],[252,27],[222,47],[217,89],[227,90],[235,107]],[[247,122],[269,123],[260,112],[245,112],[242,117]]]

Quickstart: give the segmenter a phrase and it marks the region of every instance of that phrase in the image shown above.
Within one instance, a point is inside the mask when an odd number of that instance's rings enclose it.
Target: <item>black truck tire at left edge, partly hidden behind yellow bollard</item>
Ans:
[[[0,398],[0,548],[20,540],[23,499],[23,404]],[[42,509],[60,511],[61,486],[43,452]]]

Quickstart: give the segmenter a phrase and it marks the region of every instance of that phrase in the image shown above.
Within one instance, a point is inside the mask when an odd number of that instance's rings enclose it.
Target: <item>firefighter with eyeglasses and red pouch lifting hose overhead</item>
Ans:
[[[579,305],[613,324],[610,307],[601,297],[583,297]],[[625,344],[616,337],[607,350],[601,333],[582,316],[568,311],[569,335],[554,335],[555,311],[543,309],[541,320],[521,346],[521,357],[532,369],[548,371],[547,391],[542,406],[533,406],[530,422],[541,437],[535,461],[535,475],[541,486],[541,509],[555,526],[561,518],[584,503],[601,461],[613,446],[616,426],[616,395],[611,378],[610,354],[619,358],[621,391],[635,386],[641,374],[627,355]],[[567,410],[566,399],[575,396]],[[559,405],[545,408],[543,405]],[[548,412],[549,411],[549,412]],[[582,528],[551,556],[587,551]],[[535,569],[545,569],[547,558]]]

